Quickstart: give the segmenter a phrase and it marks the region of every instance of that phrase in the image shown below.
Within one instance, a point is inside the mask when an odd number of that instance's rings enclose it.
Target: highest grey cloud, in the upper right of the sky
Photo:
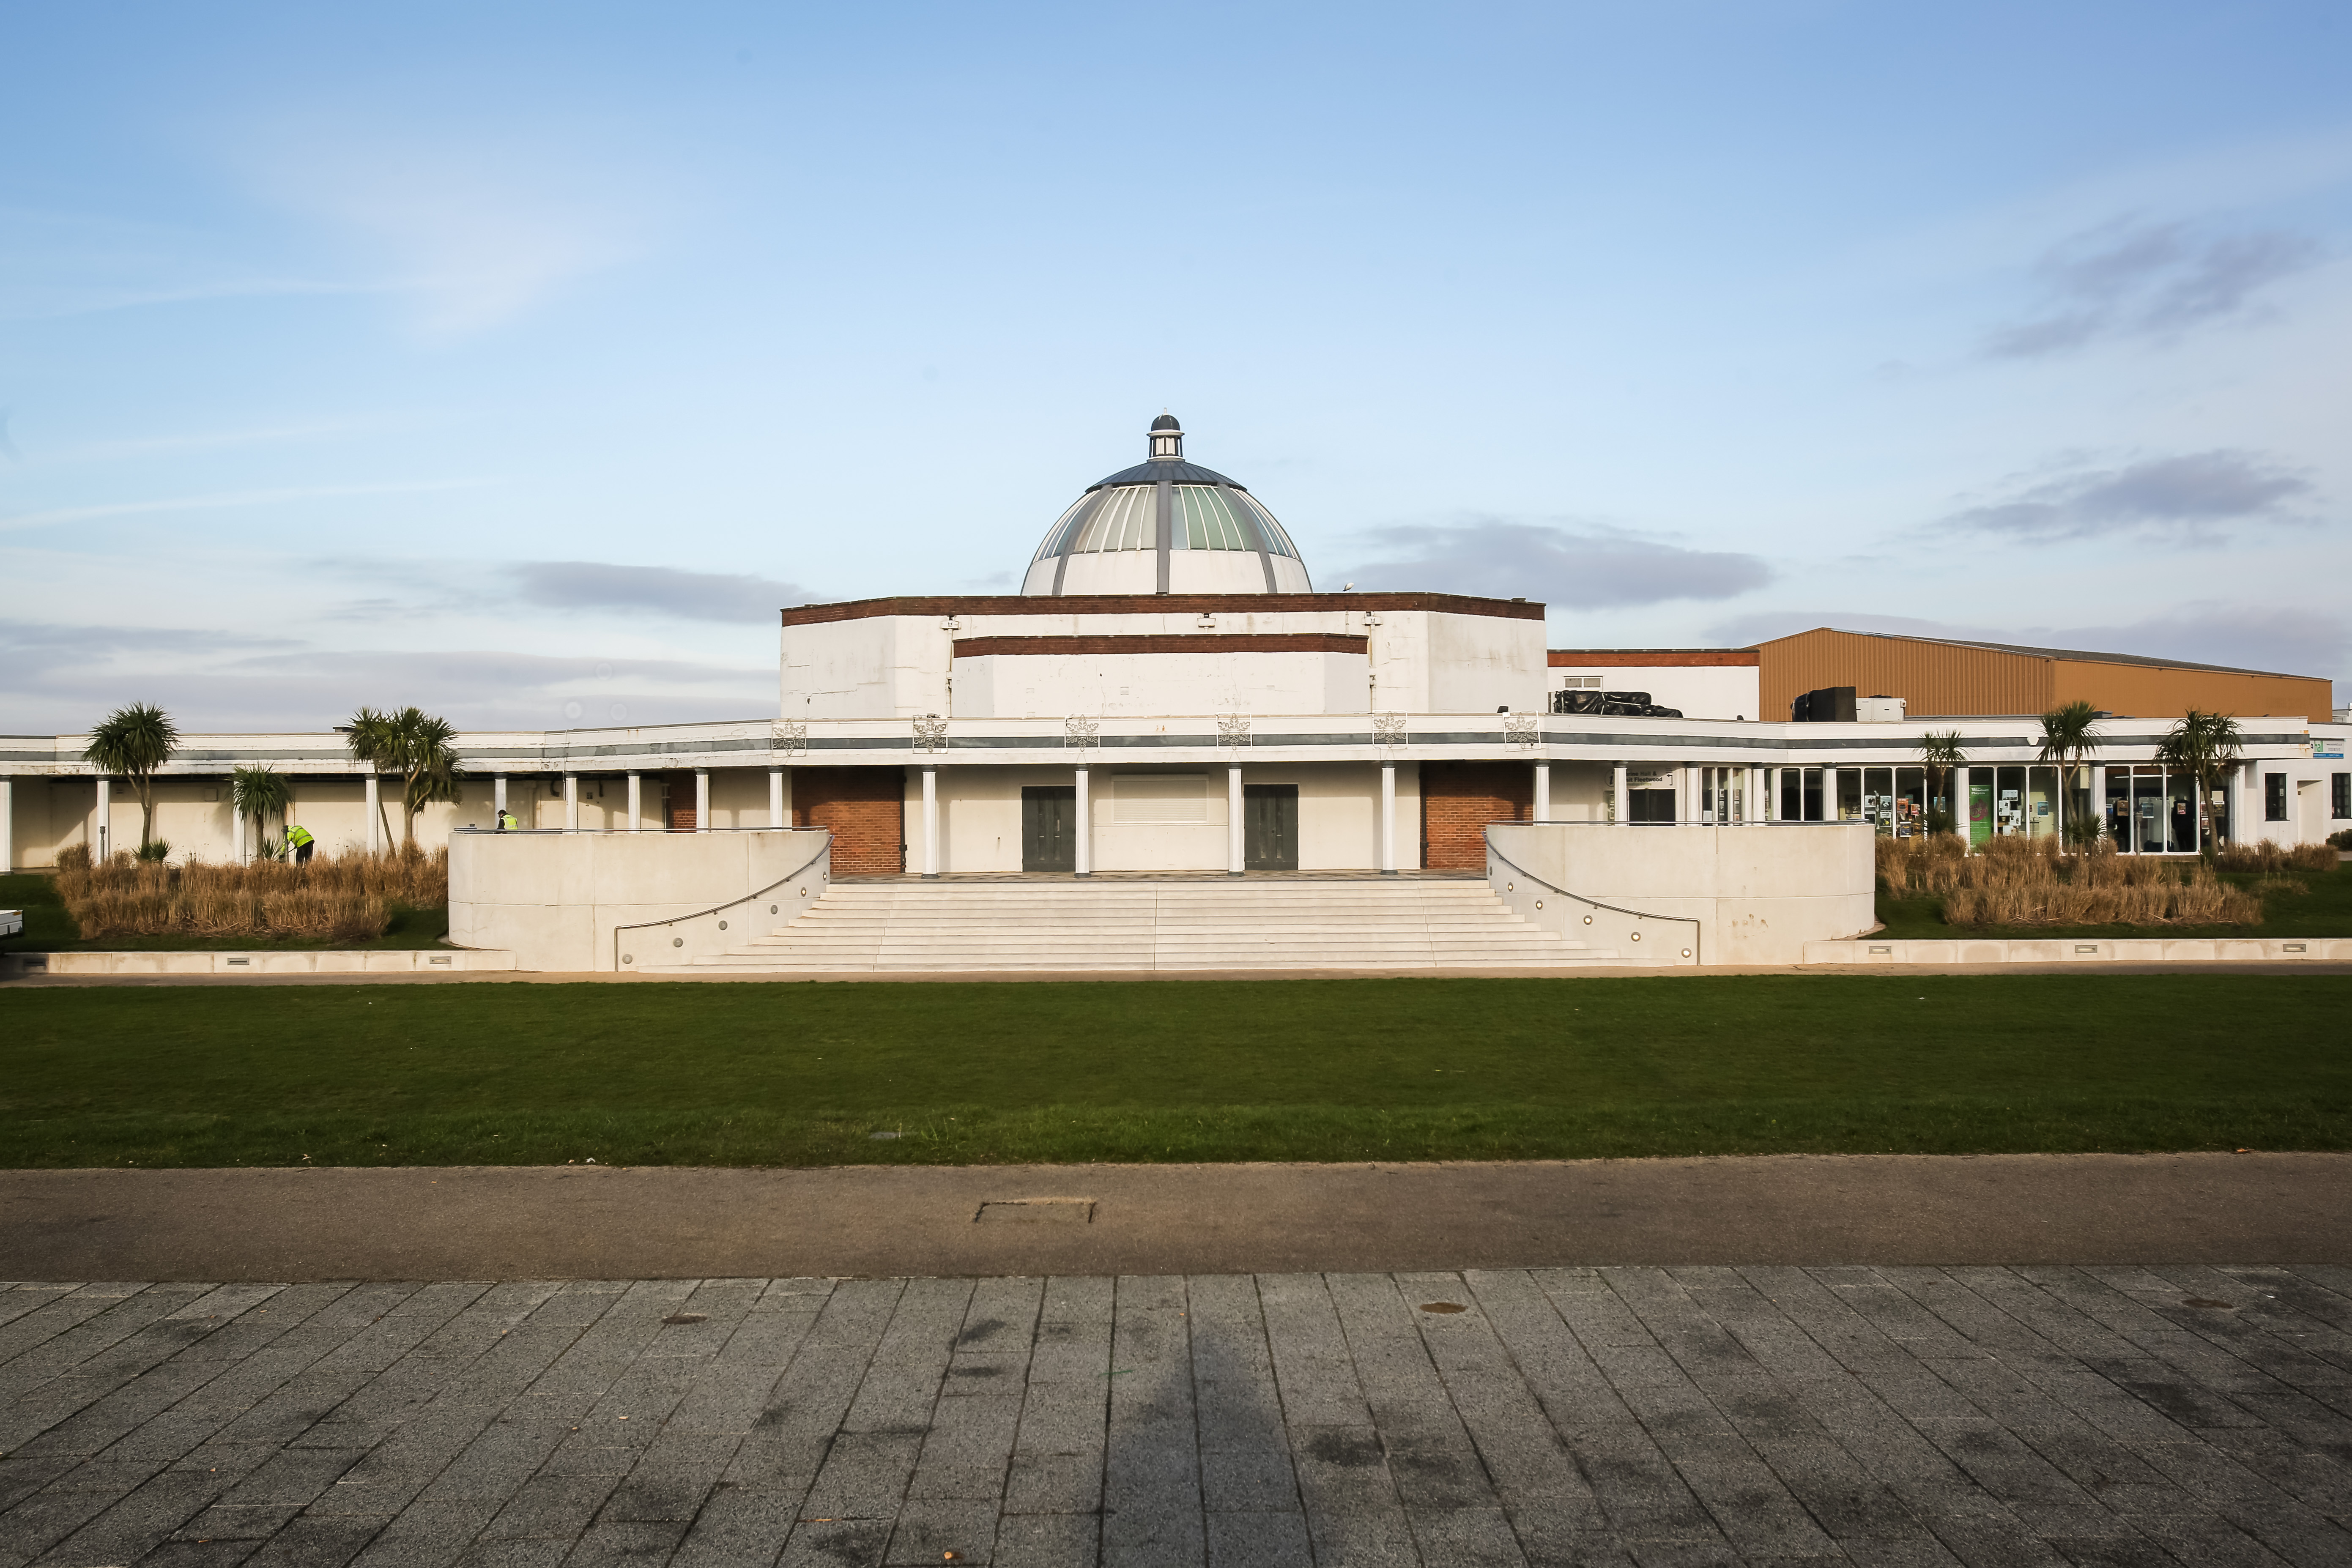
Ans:
[[[2034,360],[2098,339],[2173,336],[2246,313],[2267,284],[2317,263],[2310,235],[2206,235],[2192,223],[2119,219],[2051,249],[2034,268],[2044,308],[1994,329],[1997,360]]]

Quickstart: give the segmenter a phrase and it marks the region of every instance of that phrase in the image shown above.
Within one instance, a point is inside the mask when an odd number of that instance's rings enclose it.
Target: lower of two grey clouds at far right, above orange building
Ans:
[[[2169,534],[2218,543],[2223,524],[2303,522],[2288,508],[2312,494],[2310,480],[2263,454],[2218,449],[2042,480],[1945,522],[2023,538]]]

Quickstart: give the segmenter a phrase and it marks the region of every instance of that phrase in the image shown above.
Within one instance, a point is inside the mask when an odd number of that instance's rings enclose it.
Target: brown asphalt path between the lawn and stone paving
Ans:
[[[2352,1262],[2352,1154],[5,1171],[0,1279]]]

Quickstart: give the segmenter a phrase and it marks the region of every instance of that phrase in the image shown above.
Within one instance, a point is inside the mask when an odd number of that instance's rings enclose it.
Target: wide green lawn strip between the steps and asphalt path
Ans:
[[[2340,1150],[2345,1016],[2343,976],[12,987],[0,1166]]]

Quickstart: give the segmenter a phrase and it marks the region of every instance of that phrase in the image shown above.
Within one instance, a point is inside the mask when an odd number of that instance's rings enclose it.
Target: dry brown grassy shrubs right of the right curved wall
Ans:
[[[1943,893],[1952,926],[2251,926],[2263,900],[2209,865],[2119,856],[2112,844],[2065,853],[2058,839],[1879,839],[1879,879],[1896,896]]]

